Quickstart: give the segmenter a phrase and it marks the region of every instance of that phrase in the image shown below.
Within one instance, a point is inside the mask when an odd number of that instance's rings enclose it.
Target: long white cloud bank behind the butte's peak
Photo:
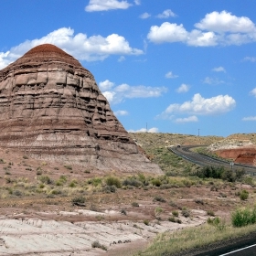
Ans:
[[[103,60],[110,55],[140,55],[144,53],[141,49],[131,48],[129,42],[117,34],[107,37],[100,35],[87,37],[86,34],[82,33],[75,35],[74,30],[70,27],[62,27],[50,32],[45,37],[27,40],[7,52],[0,52],[0,67],[4,68],[25,54],[30,48],[45,43],[54,44],[76,59],[87,61]]]

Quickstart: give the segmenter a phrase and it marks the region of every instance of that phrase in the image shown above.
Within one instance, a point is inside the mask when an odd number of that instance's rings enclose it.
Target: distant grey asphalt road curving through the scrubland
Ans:
[[[209,157],[207,155],[200,155],[190,151],[190,149],[193,147],[202,147],[202,146],[206,146],[206,145],[181,145],[178,147],[177,146],[169,147],[168,149],[172,151],[174,154],[179,155],[184,159],[187,159],[188,161],[193,162],[197,165],[203,165],[203,166],[215,165],[215,166],[225,166],[227,168],[231,167],[228,161],[219,160],[216,158]],[[256,176],[256,167],[254,166],[234,164],[232,168],[234,170],[243,168],[247,174]]]

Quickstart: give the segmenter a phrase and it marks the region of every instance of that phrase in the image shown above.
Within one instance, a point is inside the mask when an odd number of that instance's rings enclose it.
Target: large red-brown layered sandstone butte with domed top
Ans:
[[[0,146],[63,164],[161,173],[138,151],[91,72],[49,44],[0,70]]]

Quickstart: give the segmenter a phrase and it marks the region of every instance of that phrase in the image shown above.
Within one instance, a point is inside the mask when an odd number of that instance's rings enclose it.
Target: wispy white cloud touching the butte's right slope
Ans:
[[[113,104],[120,103],[124,99],[160,97],[167,91],[165,87],[130,86],[127,83],[115,86],[110,80],[101,81],[99,86],[102,94]]]

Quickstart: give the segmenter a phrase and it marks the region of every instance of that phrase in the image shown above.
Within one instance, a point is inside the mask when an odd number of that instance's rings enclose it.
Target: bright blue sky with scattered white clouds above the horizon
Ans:
[[[51,43],[128,131],[255,133],[256,1],[5,0],[0,69]]]

